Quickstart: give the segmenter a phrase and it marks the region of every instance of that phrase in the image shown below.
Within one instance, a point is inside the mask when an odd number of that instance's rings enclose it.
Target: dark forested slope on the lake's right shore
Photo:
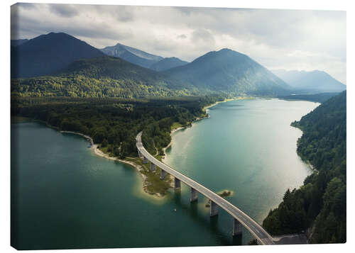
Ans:
[[[263,227],[272,235],[307,232],[311,243],[346,242],[346,91],[291,125],[303,131],[297,153],[315,171],[286,191]]]

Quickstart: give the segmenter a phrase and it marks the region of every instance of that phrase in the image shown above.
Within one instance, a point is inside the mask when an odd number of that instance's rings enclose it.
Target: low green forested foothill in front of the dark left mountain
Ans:
[[[13,96],[121,97],[194,94],[178,80],[118,57],[76,60],[53,76],[11,79]]]

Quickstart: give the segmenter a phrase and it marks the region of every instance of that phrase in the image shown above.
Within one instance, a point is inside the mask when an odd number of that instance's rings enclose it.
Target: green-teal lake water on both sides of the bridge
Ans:
[[[211,118],[173,134],[165,161],[259,223],[310,169],[290,127],[318,104],[277,99],[219,103]],[[143,193],[129,166],[97,157],[88,142],[40,123],[11,124],[11,242],[19,249],[178,247],[247,244],[231,237],[231,216],[209,218],[190,189],[163,200]],[[175,211],[176,209],[176,211]]]

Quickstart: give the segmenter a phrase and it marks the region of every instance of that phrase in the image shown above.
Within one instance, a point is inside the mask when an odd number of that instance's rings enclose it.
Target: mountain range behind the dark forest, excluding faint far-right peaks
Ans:
[[[23,96],[290,94],[285,81],[233,50],[208,52],[188,63],[121,44],[98,50],[65,33],[11,47],[11,77],[11,92]]]

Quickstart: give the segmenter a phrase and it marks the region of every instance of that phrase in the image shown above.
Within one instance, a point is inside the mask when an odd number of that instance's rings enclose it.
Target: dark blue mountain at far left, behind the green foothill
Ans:
[[[48,33],[11,47],[11,77],[37,77],[58,72],[71,62],[104,54],[66,33]]]

